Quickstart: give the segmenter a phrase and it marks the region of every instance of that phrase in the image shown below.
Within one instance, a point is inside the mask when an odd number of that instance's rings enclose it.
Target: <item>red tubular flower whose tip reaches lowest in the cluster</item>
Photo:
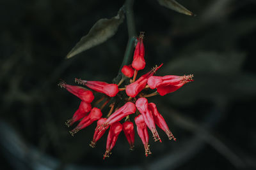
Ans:
[[[119,122],[115,122],[110,126],[110,129],[108,132],[106,152],[103,155],[103,159],[105,159],[106,157],[109,157],[109,155],[111,154],[111,150],[115,146],[118,135],[120,134],[122,129],[123,129],[123,126]]]

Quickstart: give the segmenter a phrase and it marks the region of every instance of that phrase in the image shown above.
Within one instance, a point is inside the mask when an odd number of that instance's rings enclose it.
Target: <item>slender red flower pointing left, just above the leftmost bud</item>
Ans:
[[[104,93],[108,95],[109,97],[115,97],[118,93],[118,86],[116,84],[109,84],[103,81],[86,81],[86,80],[80,80],[75,79],[77,83],[86,85],[92,90],[95,90],[100,93]]]

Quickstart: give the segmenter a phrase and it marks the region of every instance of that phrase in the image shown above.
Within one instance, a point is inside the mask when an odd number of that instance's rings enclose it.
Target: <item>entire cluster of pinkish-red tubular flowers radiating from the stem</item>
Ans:
[[[156,95],[164,96],[174,92],[189,81],[193,81],[193,74],[188,76],[154,76],[163,64],[153,67],[148,73],[143,74],[136,80],[138,71],[144,69],[146,64],[144,59],[143,32],[141,32],[137,40],[132,64],[122,67],[124,76],[118,85],[115,83],[87,81],[77,78],[75,79],[76,83],[84,85],[90,88],[90,90],[75,85],[67,85],[64,81],[58,84],[81,99],[78,110],[66,122],[66,125],[70,127],[79,121],[76,127],[70,131],[72,136],[81,129],[84,129],[84,127],[88,127],[88,125],[97,121],[97,127],[90,143],[90,146],[94,148],[97,141],[109,129],[104,159],[111,154],[111,150],[115,146],[117,138],[122,131],[124,131],[125,137],[130,145],[130,150],[133,150],[134,123],[132,123],[131,115],[134,113],[136,113],[134,122],[137,127],[138,136],[140,136],[144,145],[146,156],[151,153],[148,145],[148,129],[152,132],[155,141],[162,142],[156,125],[166,133],[170,140],[173,139],[176,141],[163,116],[157,110],[156,104],[148,103],[147,97]],[[129,84],[123,88],[119,88],[124,83],[124,80],[129,78],[132,78]],[[156,91],[151,94],[145,94],[143,92],[145,89],[156,89]],[[103,96],[92,104],[94,94],[97,92],[103,94]],[[102,110],[106,105],[110,109],[106,118],[102,118]],[[121,124],[120,121],[123,119],[125,119],[124,123]]]

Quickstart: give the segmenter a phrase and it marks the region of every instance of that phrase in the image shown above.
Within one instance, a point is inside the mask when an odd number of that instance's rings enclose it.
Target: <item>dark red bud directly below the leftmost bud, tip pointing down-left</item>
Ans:
[[[87,113],[89,113],[91,110],[92,110],[92,105],[90,103],[81,101],[78,110],[74,113],[72,118],[67,120],[65,124],[67,125],[67,127],[70,127],[75,122],[85,117]]]

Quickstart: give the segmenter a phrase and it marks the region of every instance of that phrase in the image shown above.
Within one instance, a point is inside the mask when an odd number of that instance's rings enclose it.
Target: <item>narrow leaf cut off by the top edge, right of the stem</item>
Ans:
[[[195,16],[194,13],[189,11],[187,8],[185,8],[181,4],[177,3],[177,1],[175,1],[175,0],[157,0],[157,1],[162,6],[165,6],[166,8],[170,8],[171,10],[177,11],[179,13],[184,13],[186,15]]]

